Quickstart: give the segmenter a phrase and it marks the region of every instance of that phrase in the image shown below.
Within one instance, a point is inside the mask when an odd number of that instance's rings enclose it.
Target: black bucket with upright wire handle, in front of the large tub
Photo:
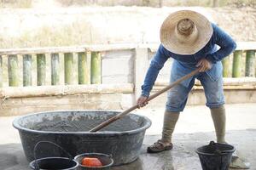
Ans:
[[[37,150],[39,144],[54,144],[62,151],[64,151],[68,157],[44,157],[38,159]],[[61,148],[61,146],[59,146],[58,144],[49,141],[41,141],[36,144],[34,148],[34,157],[35,160],[29,164],[29,167],[34,170],[77,170],[79,167],[79,162],[73,160],[73,157],[66,150]]]

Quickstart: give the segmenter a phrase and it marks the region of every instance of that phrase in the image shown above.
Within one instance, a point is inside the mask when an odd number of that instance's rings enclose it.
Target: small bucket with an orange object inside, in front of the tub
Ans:
[[[81,165],[82,160],[84,157],[95,157],[99,159],[99,161],[102,162],[102,167],[86,167]],[[113,159],[111,156],[108,156],[106,154],[100,154],[100,153],[85,153],[80,154],[78,156],[74,157],[75,161],[79,162],[79,170],[109,170],[110,167],[113,165]]]

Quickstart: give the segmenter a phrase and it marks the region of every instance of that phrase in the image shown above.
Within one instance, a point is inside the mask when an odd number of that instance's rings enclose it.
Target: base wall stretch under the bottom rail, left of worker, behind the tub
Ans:
[[[4,99],[0,116],[24,115],[40,111],[117,110],[130,107],[133,94],[79,94]]]

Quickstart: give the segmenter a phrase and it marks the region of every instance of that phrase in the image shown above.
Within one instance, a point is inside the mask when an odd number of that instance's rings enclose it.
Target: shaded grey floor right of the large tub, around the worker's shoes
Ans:
[[[232,140],[239,154],[251,163],[251,169],[256,169],[256,130],[229,131],[227,139]],[[242,136],[242,138],[241,138]],[[214,138],[214,133],[179,133],[174,136],[176,143],[172,150],[159,154],[148,154],[148,144],[153,144],[159,135],[146,136],[142,154],[137,161],[114,170],[200,170],[201,164],[195,150],[208,144]]]

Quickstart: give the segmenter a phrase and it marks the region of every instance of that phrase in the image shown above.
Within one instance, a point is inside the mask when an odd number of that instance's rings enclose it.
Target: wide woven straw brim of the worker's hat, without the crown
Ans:
[[[175,36],[179,20],[189,19],[195,23],[198,36],[195,42],[180,42]],[[170,14],[160,28],[160,41],[163,46],[175,54],[195,54],[207,45],[212,37],[212,24],[205,16],[195,11],[181,10]]]

